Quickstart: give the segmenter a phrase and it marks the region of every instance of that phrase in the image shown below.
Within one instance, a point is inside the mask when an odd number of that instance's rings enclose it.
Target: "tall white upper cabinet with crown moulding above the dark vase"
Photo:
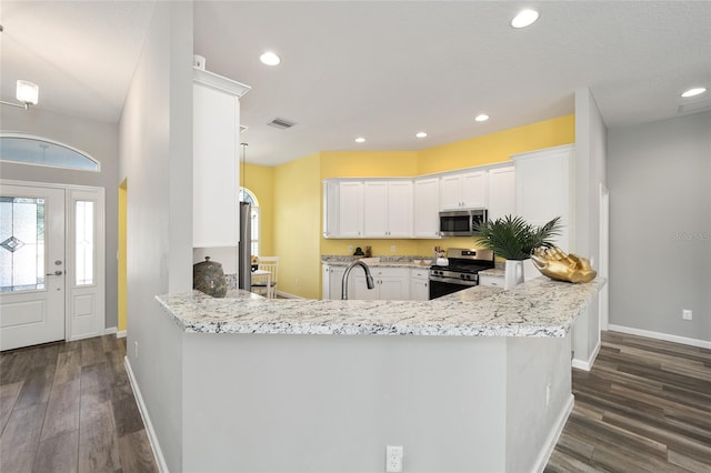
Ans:
[[[192,88],[192,245],[239,242],[239,98],[249,87],[194,69]]]

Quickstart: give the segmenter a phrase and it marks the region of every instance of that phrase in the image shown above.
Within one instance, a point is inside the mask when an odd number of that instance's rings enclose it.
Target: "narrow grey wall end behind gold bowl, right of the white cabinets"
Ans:
[[[600,261],[600,184],[605,184],[607,129],[589,89],[575,91],[574,234],[571,251]],[[575,365],[587,368],[600,345],[600,304],[593,298],[573,329]]]

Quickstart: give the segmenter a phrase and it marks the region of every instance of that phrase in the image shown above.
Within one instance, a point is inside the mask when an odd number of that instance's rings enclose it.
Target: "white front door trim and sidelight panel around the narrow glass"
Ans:
[[[80,340],[106,333],[106,190],[90,185],[57,184],[18,180],[0,180],[1,185],[27,185],[64,190],[64,340]],[[93,220],[93,281],[77,283],[76,271],[76,202],[91,201]]]

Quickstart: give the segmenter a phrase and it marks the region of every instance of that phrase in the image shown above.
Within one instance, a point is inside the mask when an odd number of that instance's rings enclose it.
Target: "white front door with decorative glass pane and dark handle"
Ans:
[[[64,190],[0,187],[0,350],[64,340]]]

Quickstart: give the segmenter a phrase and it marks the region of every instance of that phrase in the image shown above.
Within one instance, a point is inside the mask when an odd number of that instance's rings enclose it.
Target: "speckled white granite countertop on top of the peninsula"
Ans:
[[[157,299],[187,333],[565,336],[604,282],[539,276],[509,291],[474,286],[432,301],[267,300],[244,291]]]

